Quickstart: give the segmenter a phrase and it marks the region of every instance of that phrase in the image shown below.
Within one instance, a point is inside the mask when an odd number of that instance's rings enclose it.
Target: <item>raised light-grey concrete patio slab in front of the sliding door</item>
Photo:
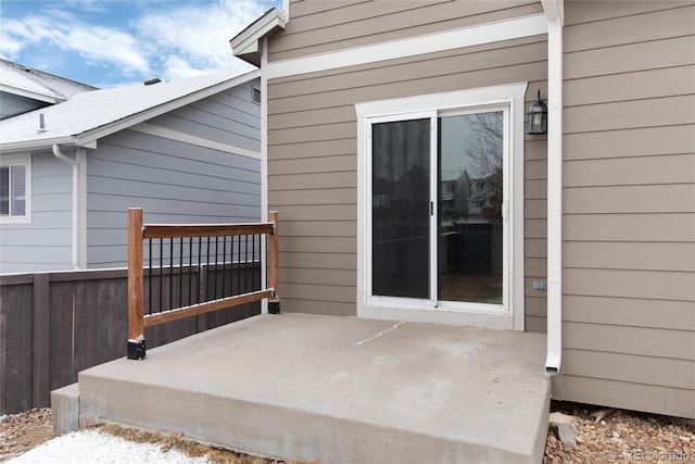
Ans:
[[[80,373],[80,423],[321,463],[539,463],[544,359],[541,334],[262,315]]]

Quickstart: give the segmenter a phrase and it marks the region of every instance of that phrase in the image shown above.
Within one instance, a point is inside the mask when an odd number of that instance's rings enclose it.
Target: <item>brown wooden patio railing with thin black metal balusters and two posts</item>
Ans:
[[[278,312],[277,231],[277,212],[267,223],[182,225],[143,224],[142,210],[129,209],[128,358],[144,359],[147,327],[266,298]],[[267,285],[249,283],[245,268],[264,249]],[[205,281],[191,276],[201,267]]]

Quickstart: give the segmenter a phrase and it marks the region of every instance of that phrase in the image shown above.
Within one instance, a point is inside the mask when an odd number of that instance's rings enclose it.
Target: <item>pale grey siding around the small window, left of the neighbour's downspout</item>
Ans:
[[[31,154],[31,220],[0,225],[0,273],[72,268],[72,167]]]

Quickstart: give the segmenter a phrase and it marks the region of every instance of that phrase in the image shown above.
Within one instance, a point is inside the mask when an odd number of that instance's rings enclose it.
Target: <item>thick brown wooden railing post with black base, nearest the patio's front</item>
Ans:
[[[142,210],[128,209],[128,359],[144,359]]]

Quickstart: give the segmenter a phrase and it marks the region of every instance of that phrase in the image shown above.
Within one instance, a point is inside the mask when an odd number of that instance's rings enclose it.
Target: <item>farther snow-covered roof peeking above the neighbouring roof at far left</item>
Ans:
[[[0,120],[60,103],[97,87],[0,59]]]

